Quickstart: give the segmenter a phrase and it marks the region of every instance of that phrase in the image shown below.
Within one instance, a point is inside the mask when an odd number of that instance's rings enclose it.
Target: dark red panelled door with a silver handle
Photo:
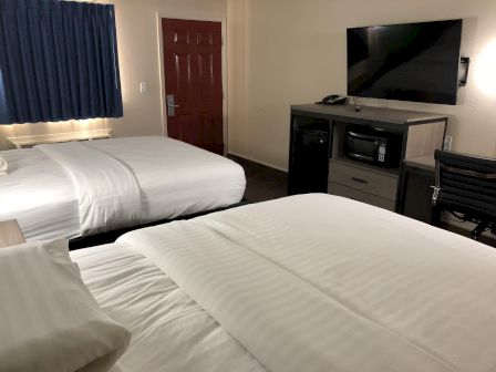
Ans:
[[[221,23],[163,19],[168,136],[224,154]]]

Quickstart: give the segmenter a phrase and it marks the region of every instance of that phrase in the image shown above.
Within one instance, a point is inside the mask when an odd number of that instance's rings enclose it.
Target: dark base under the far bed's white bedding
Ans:
[[[114,242],[121,235],[124,235],[128,231],[132,230],[136,230],[136,229],[141,229],[144,227],[149,227],[149,226],[155,226],[155,225],[162,225],[162,224],[167,224],[167,223],[172,223],[175,220],[183,220],[183,219],[190,219],[190,218],[195,218],[195,217],[199,217],[199,216],[205,216],[205,215],[209,215],[211,213],[215,211],[220,211],[220,210],[226,210],[226,209],[230,209],[230,208],[236,208],[242,205],[249,204],[249,202],[247,200],[241,200],[240,203],[237,204],[232,204],[230,206],[227,207],[221,207],[221,208],[216,208],[216,209],[210,209],[210,210],[205,210],[205,211],[198,211],[196,214],[193,215],[187,215],[187,216],[179,216],[177,218],[174,219],[162,219],[158,221],[153,221],[153,223],[148,223],[148,224],[144,224],[144,225],[138,225],[138,226],[132,226],[132,227],[126,227],[126,228],[122,228],[118,230],[112,230],[112,231],[107,231],[107,232],[102,232],[102,234],[96,234],[96,235],[91,235],[91,236],[86,236],[86,237],[81,237],[81,238],[75,238],[69,241],[69,249],[70,250],[75,250],[75,249],[81,249],[81,248],[86,248],[86,247],[93,247],[93,246],[100,246],[100,245],[104,245],[104,244],[110,244],[110,242]]]

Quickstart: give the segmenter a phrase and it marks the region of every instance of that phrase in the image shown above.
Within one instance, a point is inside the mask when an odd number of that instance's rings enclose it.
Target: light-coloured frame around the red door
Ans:
[[[159,61],[159,81],[161,81],[161,108],[162,108],[162,133],[167,136],[167,105],[165,103],[165,64],[164,64],[164,34],[162,32],[162,19],[178,19],[185,21],[209,21],[219,22],[221,25],[221,63],[223,63],[223,141],[224,141],[224,155],[228,153],[228,122],[227,122],[227,23],[226,18],[202,18],[202,17],[186,17],[184,14],[169,14],[163,12],[156,12],[157,33],[158,33],[158,61]]]

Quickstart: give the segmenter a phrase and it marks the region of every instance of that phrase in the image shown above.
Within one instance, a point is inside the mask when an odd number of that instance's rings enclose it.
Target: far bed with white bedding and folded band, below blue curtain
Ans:
[[[125,137],[0,152],[0,220],[28,240],[73,239],[237,204],[236,163],[167,137]]]

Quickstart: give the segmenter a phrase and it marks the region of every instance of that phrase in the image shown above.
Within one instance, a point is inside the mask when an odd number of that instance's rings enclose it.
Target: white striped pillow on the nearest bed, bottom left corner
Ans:
[[[64,240],[0,249],[0,371],[107,371],[131,333],[84,286]]]

